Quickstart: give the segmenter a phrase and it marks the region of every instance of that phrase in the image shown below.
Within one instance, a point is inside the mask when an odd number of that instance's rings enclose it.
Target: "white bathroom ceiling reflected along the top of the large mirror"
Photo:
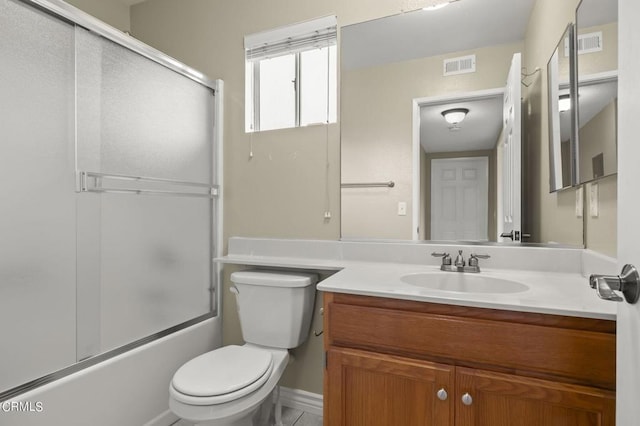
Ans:
[[[342,68],[353,69],[524,40],[534,0],[459,0],[341,28]]]

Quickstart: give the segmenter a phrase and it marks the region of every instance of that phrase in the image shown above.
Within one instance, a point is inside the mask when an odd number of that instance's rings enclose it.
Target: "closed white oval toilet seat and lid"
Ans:
[[[273,356],[252,346],[225,346],[184,364],[171,381],[170,393],[191,405],[216,405],[260,388],[271,375]]]

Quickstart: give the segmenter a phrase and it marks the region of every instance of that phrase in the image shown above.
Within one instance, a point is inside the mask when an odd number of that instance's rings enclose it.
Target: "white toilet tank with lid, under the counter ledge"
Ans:
[[[245,342],[282,349],[304,343],[311,327],[317,280],[316,275],[304,272],[232,273]]]

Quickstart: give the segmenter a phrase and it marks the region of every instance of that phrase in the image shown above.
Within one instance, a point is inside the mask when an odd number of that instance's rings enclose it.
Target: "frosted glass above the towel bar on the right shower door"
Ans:
[[[76,32],[79,169],[211,183],[211,89]]]

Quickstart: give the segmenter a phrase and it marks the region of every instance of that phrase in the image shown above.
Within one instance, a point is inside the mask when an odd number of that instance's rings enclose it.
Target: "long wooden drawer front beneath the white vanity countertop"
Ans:
[[[512,320],[504,321],[492,319],[500,318],[502,311],[480,308],[452,306],[449,313],[447,305],[438,305],[434,309],[438,313],[428,313],[416,311],[421,302],[394,301],[391,309],[384,307],[388,302],[373,297],[348,296],[349,303],[338,300],[325,300],[329,345],[458,365],[489,365],[615,389],[611,321],[602,320],[602,325],[592,327],[605,331],[591,331],[580,319],[553,315],[545,321],[546,315],[507,312],[504,315]]]

